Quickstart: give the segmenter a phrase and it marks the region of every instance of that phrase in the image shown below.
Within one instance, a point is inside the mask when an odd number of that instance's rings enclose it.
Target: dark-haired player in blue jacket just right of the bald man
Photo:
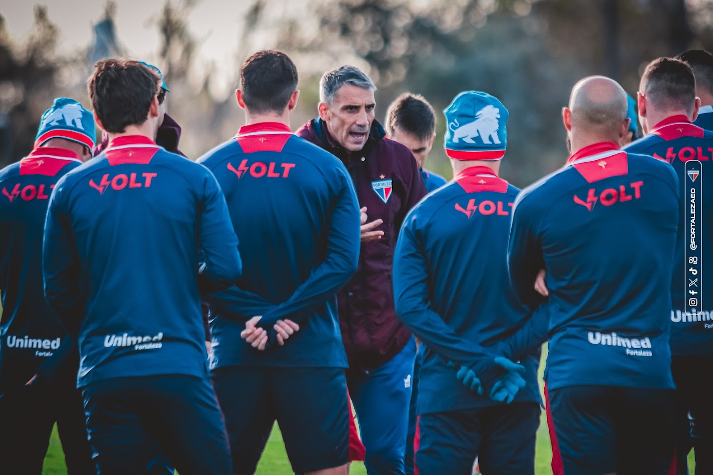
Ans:
[[[672,58],[652,61],[639,88],[639,113],[647,135],[625,148],[669,162],[680,182],[670,316],[676,465],[682,475],[687,473],[691,446],[696,449],[696,473],[713,473],[713,407],[704,390],[711,387],[704,375],[713,372],[713,207],[707,205],[705,187],[713,183],[713,175],[708,175],[713,174],[713,132],[691,123],[699,110],[700,87],[686,63]],[[692,189],[702,196],[696,197]],[[697,211],[693,218],[692,209]],[[692,248],[692,237],[702,251]],[[695,305],[690,305],[690,298]]]

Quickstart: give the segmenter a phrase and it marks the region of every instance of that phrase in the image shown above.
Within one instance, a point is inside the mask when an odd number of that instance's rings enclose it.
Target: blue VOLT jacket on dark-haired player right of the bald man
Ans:
[[[713,116],[713,113],[704,113],[699,118],[705,115]],[[671,351],[673,355],[713,355],[713,206],[708,204],[710,200],[707,196],[711,189],[707,184],[713,184],[713,131],[692,125],[685,115],[676,115],[662,120],[649,134],[628,145],[625,150],[669,162],[678,175],[682,199],[671,283]],[[702,268],[700,275],[696,276],[698,281],[695,286],[688,285],[685,275],[689,266],[685,259],[684,241],[690,206],[689,184],[692,184],[686,172],[686,162],[689,160],[699,160],[702,168],[701,177],[698,178],[702,181],[702,198],[698,200],[697,223]],[[702,312],[687,315],[685,300],[691,296],[688,291],[694,288],[699,291],[695,296],[700,299]]]

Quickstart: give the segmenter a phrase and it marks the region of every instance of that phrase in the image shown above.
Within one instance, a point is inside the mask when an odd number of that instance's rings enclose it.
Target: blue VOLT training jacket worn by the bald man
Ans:
[[[668,317],[678,213],[672,167],[613,142],[583,148],[518,196],[511,281],[537,306],[533,283],[544,268],[549,301],[513,335],[510,353],[549,334],[548,389],[674,387]]]

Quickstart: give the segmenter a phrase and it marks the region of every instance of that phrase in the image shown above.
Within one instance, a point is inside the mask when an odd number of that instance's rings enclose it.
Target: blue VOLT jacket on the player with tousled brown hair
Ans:
[[[146,137],[112,140],[56,185],[43,249],[47,301],[78,335],[79,387],[207,375],[198,289],[230,286],[241,263],[205,167]]]

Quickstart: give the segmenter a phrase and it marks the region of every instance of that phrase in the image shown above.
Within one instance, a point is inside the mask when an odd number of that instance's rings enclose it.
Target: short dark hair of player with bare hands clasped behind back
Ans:
[[[247,109],[282,113],[297,90],[297,67],[284,53],[258,51],[242,63],[240,85]]]

